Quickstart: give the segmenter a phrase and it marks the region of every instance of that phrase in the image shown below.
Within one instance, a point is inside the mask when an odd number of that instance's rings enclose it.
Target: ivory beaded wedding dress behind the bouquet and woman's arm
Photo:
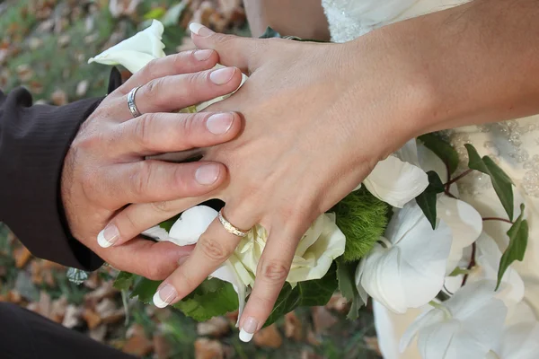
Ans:
[[[464,4],[465,0],[322,0],[328,18],[331,39],[346,42],[356,39],[376,28],[425,13],[432,13]],[[538,80],[539,81],[539,80]],[[539,99],[537,99],[539,101]],[[515,218],[520,214],[521,203],[526,205],[525,216],[529,223],[529,238],[523,262],[515,262],[524,280],[524,301],[539,320],[539,116],[520,118],[486,126],[461,127],[447,131],[461,160],[467,164],[464,144],[473,144],[481,155],[489,155],[506,171],[515,183]],[[490,178],[472,173],[458,182],[460,197],[474,206],[483,217],[507,217],[492,189]],[[483,222],[487,232],[504,251],[508,245],[508,223]],[[398,345],[402,333],[421,312],[411,310],[397,315],[379,303],[374,303],[376,328],[384,358],[418,359],[415,345],[403,354]],[[539,340],[539,338],[537,338]],[[539,354],[537,354],[539,357]]]

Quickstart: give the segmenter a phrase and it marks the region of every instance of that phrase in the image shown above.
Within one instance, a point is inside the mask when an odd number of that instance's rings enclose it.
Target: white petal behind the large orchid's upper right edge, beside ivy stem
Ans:
[[[449,275],[463,256],[463,249],[470,246],[482,232],[482,216],[466,202],[441,196],[437,199],[437,217],[441,218],[453,233],[451,253],[447,261]]]

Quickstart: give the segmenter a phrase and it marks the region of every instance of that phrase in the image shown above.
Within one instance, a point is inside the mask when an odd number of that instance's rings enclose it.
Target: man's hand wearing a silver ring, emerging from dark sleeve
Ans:
[[[166,201],[187,198],[194,206],[211,197],[227,179],[217,162],[170,163],[148,155],[189,150],[229,141],[241,121],[233,112],[170,113],[233,92],[242,76],[236,68],[209,70],[213,50],[163,57],[133,75],[102,101],[75,136],[62,171],[61,193],[75,238],[111,266],[150,279],[163,279],[189,254],[170,242],[137,238],[103,249],[96,238],[110,218],[130,203],[151,203],[164,211]],[[127,94],[136,95],[142,116],[133,118]],[[109,241],[117,233],[105,233]]]

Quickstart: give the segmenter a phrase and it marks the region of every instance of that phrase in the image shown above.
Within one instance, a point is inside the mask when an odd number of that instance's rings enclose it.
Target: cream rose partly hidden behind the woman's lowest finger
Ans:
[[[268,232],[261,225],[256,225],[236,249],[238,258],[252,273],[256,273],[267,240]],[[297,282],[322,278],[330,269],[333,259],[344,253],[345,244],[344,234],[335,223],[335,215],[320,215],[297,245],[287,282],[295,285]]]

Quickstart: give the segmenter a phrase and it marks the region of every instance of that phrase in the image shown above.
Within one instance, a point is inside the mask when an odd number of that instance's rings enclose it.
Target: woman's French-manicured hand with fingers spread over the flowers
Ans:
[[[309,225],[418,135],[414,119],[423,91],[411,69],[380,57],[370,38],[361,45],[320,44],[191,29],[199,48],[215,48],[223,65],[250,75],[231,98],[209,109],[242,113],[243,134],[209,148],[205,161],[228,168],[230,181],[216,196],[225,201],[225,218],[243,230],[261,223],[269,232],[240,321],[254,333],[270,315]],[[171,303],[189,294],[239,241],[218,220],[211,223],[161,285],[160,297]]]

